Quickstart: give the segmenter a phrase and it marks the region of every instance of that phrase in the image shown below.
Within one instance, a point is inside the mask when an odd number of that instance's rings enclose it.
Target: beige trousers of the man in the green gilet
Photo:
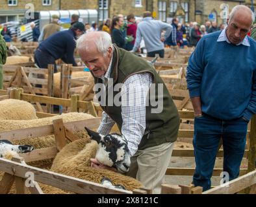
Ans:
[[[139,180],[146,188],[153,190],[153,193],[160,193],[173,145],[173,142],[166,142],[136,151],[131,157],[131,167],[126,175]]]

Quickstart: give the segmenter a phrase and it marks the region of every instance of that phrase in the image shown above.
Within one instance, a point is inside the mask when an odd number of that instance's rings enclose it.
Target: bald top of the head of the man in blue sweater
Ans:
[[[229,21],[232,21],[233,18],[239,17],[243,19],[243,21],[249,22],[250,25],[253,24],[255,16],[251,9],[248,6],[237,5],[235,6],[231,13],[229,14]]]

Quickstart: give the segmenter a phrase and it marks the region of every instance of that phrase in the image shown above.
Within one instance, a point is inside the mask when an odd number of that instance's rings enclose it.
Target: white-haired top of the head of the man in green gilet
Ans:
[[[107,51],[109,47],[112,47],[112,40],[111,36],[107,32],[95,32],[97,35],[92,38],[92,34],[86,33],[80,36],[79,39],[77,39],[77,50],[91,50],[89,43],[94,43],[96,45],[96,48],[99,52],[103,54],[103,56],[107,55]]]

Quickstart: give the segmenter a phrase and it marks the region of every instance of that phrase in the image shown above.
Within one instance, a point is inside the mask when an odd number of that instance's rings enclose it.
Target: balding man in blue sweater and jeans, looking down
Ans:
[[[248,122],[256,113],[256,41],[247,36],[254,18],[250,8],[235,6],[227,28],[203,36],[188,62],[186,78],[195,112],[193,182],[204,191],[211,188],[221,137],[224,180],[239,175]]]

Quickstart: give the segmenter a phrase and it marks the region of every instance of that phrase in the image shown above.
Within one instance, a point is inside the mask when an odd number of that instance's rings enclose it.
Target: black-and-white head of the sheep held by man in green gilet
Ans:
[[[96,159],[111,168],[116,168],[120,173],[125,173],[131,166],[131,159],[127,140],[123,135],[112,133],[101,135],[84,127],[89,136],[98,143]]]

